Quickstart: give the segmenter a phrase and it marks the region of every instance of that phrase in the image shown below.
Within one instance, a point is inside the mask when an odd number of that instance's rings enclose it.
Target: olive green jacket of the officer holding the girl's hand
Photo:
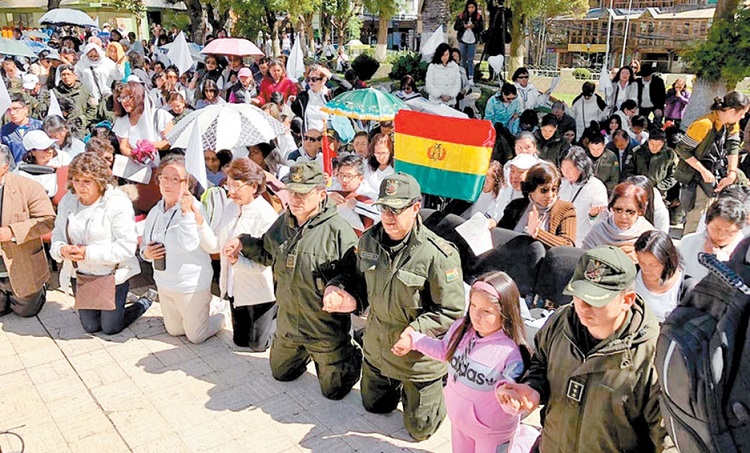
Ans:
[[[344,274],[332,284],[369,305],[364,335],[365,359],[381,374],[400,381],[428,382],[447,372],[447,365],[412,351],[397,357],[391,347],[411,326],[440,338],[463,315],[464,282],[455,246],[427,229],[417,218],[405,246],[393,257],[384,248],[382,224],[367,230]]]

